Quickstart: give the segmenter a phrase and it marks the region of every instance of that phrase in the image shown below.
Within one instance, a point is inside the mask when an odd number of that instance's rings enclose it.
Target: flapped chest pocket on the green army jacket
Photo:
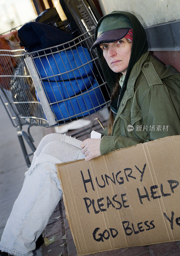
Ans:
[[[141,110],[124,109],[124,111],[120,114],[120,117],[128,124],[133,125],[142,119],[142,113]]]

